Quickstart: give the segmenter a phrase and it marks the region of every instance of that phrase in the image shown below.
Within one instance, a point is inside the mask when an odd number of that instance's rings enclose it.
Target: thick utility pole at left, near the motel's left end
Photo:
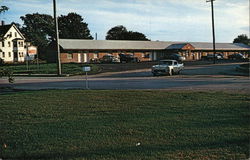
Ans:
[[[57,48],[57,74],[62,75],[61,58],[60,58],[60,46],[59,46],[59,33],[58,33],[58,20],[56,16],[56,0],[53,0],[54,5],[54,23],[56,33],[56,48]]]

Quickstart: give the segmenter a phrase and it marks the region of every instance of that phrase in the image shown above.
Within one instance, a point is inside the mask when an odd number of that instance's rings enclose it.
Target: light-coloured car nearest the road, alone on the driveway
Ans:
[[[151,72],[157,75],[173,75],[179,74],[184,69],[183,63],[176,60],[161,60],[158,65],[152,66]]]

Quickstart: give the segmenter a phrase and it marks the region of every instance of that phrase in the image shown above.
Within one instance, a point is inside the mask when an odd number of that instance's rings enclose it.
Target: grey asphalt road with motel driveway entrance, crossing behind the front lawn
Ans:
[[[238,64],[187,66],[180,75],[153,77],[150,69],[110,72],[88,77],[89,89],[164,89],[250,92],[249,77],[235,71]],[[85,76],[15,77],[15,83],[0,80],[14,89],[86,89]]]

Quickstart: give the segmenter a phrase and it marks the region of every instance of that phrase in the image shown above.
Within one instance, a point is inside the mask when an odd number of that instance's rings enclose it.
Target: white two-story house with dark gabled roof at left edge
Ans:
[[[14,25],[0,26],[0,58],[5,63],[24,62],[27,49],[25,37]]]

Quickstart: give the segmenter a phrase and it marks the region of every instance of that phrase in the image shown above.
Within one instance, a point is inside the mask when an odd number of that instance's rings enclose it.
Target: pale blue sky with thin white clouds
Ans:
[[[214,1],[216,42],[249,36],[249,1]],[[20,17],[26,14],[53,15],[53,0],[0,0],[0,5],[10,8],[0,15],[6,24],[22,24]],[[58,15],[70,12],[80,14],[99,40],[123,25],[152,41],[212,42],[211,3],[206,0],[57,0]]]

